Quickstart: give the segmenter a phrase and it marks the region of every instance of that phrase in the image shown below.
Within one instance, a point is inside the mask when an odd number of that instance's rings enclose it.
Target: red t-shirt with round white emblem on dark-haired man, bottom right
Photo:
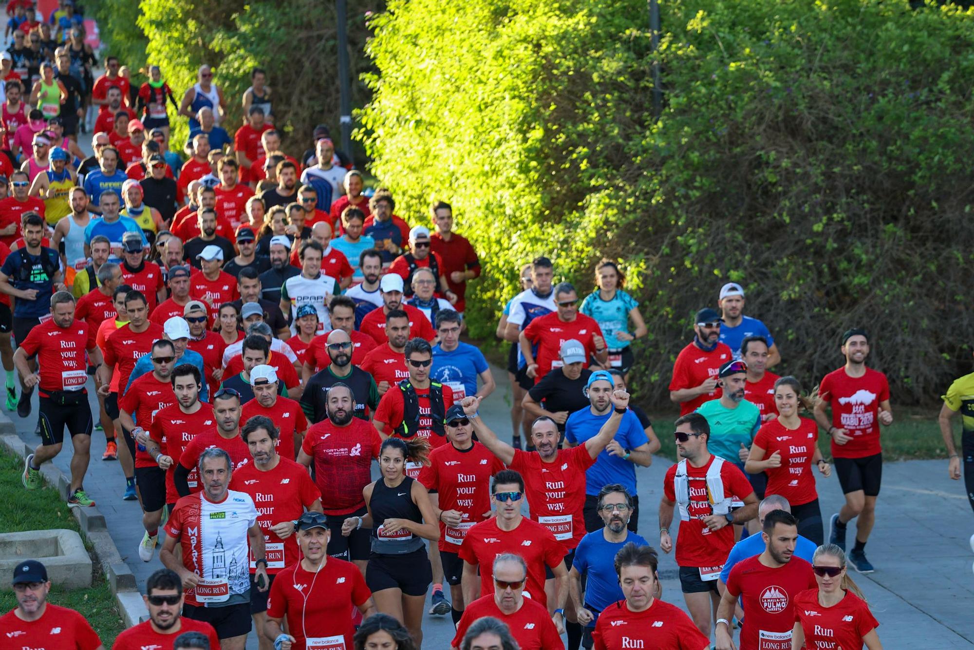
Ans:
[[[778,568],[761,563],[761,555],[737,562],[728,576],[727,589],[744,606],[740,650],[776,650],[791,647],[795,627],[795,596],[817,589],[811,564],[801,557]],[[855,646],[853,646],[855,647]]]

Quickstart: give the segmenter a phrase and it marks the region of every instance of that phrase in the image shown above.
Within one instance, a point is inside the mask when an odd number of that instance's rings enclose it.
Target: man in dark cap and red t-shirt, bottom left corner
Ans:
[[[84,616],[47,601],[51,581],[47,567],[39,561],[25,559],[14,567],[13,585],[17,607],[0,617],[4,638],[16,640],[18,647],[43,648],[51,644],[51,634],[56,633],[59,648],[104,650]]]

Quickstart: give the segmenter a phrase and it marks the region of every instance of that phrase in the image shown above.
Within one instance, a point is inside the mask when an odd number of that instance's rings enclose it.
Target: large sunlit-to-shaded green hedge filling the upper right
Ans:
[[[591,286],[618,258],[665,402],[691,315],[743,284],[807,387],[865,325],[894,401],[969,371],[974,14],[904,1],[661,3],[652,114],[645,0],[394,0],[359,137],[407,220],[453,203],[487,336],[533,255]],[[965,268],[966,267],[966,268]],[[583,289],[584,290],[584,289]]]

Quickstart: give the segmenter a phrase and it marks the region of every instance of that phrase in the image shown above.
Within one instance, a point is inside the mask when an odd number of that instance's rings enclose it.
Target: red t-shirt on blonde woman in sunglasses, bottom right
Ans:
[[[805,632],[805,648],[862,648],[862,637],[880,627],[869,605],[852,592],[831,607],[818,604],[818,589],[795,596],[795,621]]]

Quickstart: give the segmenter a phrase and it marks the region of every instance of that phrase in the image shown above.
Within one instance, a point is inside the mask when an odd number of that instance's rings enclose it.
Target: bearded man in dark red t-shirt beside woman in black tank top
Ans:
[[[298,462],[315,464],[321,506],[331,538],[328,554],[356,563],[365,573],[371,529],[362,529],[368,511],[362,489],[372,482],[372,459],[379,458],[382,437],[366,420],[355,417],[355,396],[346,385],[328,391],[328,417],[312,425],[301,444]]]

